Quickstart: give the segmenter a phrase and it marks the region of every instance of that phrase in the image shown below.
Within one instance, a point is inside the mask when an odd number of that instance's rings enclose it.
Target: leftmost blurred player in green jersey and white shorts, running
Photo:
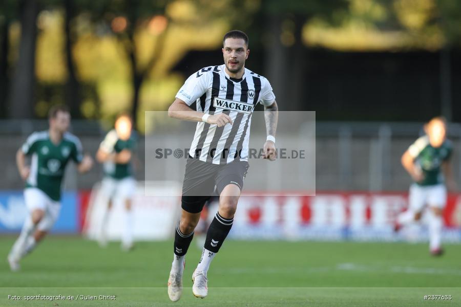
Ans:
[[[30,214],[8,255],[12,271],[19,270],[20,259],[53,227],[61,209],[61,182],[69,160],[77,163],[80,173],[87,172],[93,165],[90,156],[83,156],[80,140],[67,132],[68,109],[53,106],[48,120],[48,131],[34,132],[16,153],[19,174],[26,181],[24,199]],[[32,156],[30,167],[26,165],[26,156]]]

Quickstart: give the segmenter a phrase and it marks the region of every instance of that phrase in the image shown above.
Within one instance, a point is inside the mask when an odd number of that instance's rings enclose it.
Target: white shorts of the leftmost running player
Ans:
[[[24,200],[30,213],[36,209],[45,211],[37,229],[41,231],[51,230],[61,211],[61,204],[50,199],[50,196],[38,188],[26,188]]]

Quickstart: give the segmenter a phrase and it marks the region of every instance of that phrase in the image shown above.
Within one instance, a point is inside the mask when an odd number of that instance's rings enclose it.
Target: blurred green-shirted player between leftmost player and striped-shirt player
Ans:
[[[115,129],[109,131],[99,145],[96,159],[104,163],[104,179],[101,190],[109,200],[101,223],[99,244],[106,246],[106,227],[109,211],[115,200],[120,200],[125,207],[125,227],[122,234],[121,248],[129,251],[133,248],[133,213],[132,200],[136,190],[133,177],[133,150],[136,137],[132,131],[132,121],[128,115],[120,115],[115,120]]]

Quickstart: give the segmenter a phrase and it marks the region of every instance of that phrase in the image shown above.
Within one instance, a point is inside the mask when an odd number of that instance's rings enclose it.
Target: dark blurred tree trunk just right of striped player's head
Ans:
[[[334,23],[335,14],[347,7],[347,0],[264,0],[261,9],[265,50],[265,72],[281,102],[280,109],[295,111],[302,104],[303,78],[308,53],[303,42],[304,25],[314,17]],[[303,90],[301,90],[303,89]]]

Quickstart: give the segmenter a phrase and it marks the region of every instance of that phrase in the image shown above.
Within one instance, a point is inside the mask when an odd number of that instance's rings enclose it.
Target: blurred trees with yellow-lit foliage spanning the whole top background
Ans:
[[[0,116],[42,117],[64,102],[74,117],[131,111],[142,130],[143,111],[165,110],[183,82],[172,67],[219,49],[232,28],[262,50],[281,108],[296,109],[309,48],[459,48],[461,1],[3,0]]]

